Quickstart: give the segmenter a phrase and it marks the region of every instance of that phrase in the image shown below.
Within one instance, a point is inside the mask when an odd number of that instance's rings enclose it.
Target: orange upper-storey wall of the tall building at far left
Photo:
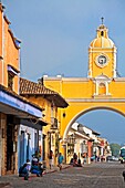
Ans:
[[[10,22],[7,17],[3,17],[2,4],[0,3],[0,84],[6,87],[8,87],[8,65],[20,71],[20,48],[15,44],[15,38],[9,25]],[[13,91],[19,93],[19,75],[13,77]]]

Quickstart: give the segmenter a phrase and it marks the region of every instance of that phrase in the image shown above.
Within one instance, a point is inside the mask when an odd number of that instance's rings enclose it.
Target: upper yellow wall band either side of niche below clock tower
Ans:
[[[59,84],[56,84],[56,82],[59,82]],[[53,87],[64,98],[92,98],[95,93],[95,83],[92,79],[62,77],[56,81],[56,77],[48,77],[44,79],[44,83],[45,86]],[[62,85],[60,86],[60,84]],[[113,79],[108,84],[108,92],[111,93],[110,98],[125,98],[125,77]]]

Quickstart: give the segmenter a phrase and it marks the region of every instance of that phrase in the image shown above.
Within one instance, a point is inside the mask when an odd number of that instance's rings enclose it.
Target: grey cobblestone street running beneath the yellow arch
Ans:
[[[29,180],[6,176],[1,177],[0,181],[10,182],[12,188],[124,188],[124,165],[119,163],[96,163],[65,168],[62,171],[48,171],[43,177],[31,177]],[[9,187],[7,185],[4,188]]]

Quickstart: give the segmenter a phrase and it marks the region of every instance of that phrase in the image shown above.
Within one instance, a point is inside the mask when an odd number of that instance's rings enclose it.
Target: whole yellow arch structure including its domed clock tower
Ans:
[[[111,109],[125,116],[125,77],[117,77],[116,46],[104,24],[96,32],[88,46],[87,77],[43,77],[45,86],[60,93],[69,103],[69,107],[59,113],[62,145],[66,143],[71,125],[82,114]]]

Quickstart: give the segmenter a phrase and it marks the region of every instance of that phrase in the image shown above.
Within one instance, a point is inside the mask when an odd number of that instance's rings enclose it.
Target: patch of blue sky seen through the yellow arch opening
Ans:
[[[77,122],[96,130],[110,143],[125,145],[125,117],[118,113],[106,109],[92,111]]]

